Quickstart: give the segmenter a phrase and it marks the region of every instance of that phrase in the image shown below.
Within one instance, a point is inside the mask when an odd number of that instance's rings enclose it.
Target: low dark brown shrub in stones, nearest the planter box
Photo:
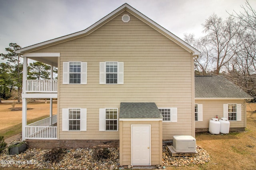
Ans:
[[[58,162],[65,153],[66,149],[64,148],[54,148],[44,154],[44,161]]]

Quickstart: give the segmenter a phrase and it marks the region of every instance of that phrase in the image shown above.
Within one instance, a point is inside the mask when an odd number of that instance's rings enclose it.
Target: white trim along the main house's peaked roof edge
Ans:
[[[185,41],[183,41],[182,39],[180,39],[179,37],[177,37],[176,35],[174,35],[170,31],[168,31],[167,29],[163,28],[162,26],[160,26],[159,24],[157,24],[156,22],[154,22],[150,18],[146,17],[144,14],[140,13],[138,10],[132,8],[130,5],[128,5],[126,3],[124,5],[122,5],[122,6],[120,6],[119,8],[117,8],[116,10],[114,10],[113,12],[111,12],[110,14],[108,14],[107,16],[105,16],[104,18],[102,18],[101,20],[97,21],[96,23],[94,23],[93,25],[88,27],[87,29],[83,30],[83,31],[72,33],[70,35],[66,35],[66,36],[63,36],[63,37],[59,37],[59,38],[56,38],[56,39],[52,39],[52,40],[49,40],[49,41],[38,43],[38,44],[35,44],[35,45],[31,45],[29,47],[24,47],[22,49],[16,50],[16,53],[23,54],[25,51],[33,50],[35,48],[44,47],[46,45],[49,46],[52,43],[56,44],[56,43],[58,43],[60,41],[64,41],[64,40],[68,41],[69,39],[75,39],[75,38],[78,38],[78,37],[86,36],[86,35],[88,35],[90,33],[90,31],[92,29],[94,29],[98,25],[104,23],[105,21],[107,21],[112,16],[116,16],[116,14],[122,12],[123,10],[126,10],[126,8],[128,10],[131,10],[132,12],[134,12],[135,14],[137,14],[138,16],[143,18],[144,20],[148,21],[150,24],[154,25],[155,27],[157,27],[158,29],[160,29],[161,31],[166,33],[167,35],[169,35],[172,38],[171,39],[172,41],[177,41],[177,42],[181,43],[182,45],[184,45],[189,50],[191,50],[190,52],[193,53],[193,57],[200,55],[200,51],[198,51],[194,47],[188,45],[188,43],[186,43]]]

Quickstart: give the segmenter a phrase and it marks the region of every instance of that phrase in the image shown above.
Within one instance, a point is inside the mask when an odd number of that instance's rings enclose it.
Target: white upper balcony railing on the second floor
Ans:
[[[57,92],[58,80],[26,80],[26,92]]]

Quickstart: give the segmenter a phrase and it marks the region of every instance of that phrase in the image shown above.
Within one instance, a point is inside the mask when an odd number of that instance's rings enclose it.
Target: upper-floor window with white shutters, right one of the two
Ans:
[[[124,63],[100,62],[100,84],[124,84]]]

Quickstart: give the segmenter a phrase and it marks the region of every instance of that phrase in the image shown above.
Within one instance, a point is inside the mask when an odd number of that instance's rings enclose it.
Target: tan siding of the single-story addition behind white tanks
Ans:
[[[203,121],[196,121],[196,128],[208,128],[209,120],[218,115],[218,119],[223,117],[223,104],[242,104],[242,121],[230,121],[230,127],[246,127],[244,110],[246,103],[244,100],[195,100],[196,104],[203,104]]]

